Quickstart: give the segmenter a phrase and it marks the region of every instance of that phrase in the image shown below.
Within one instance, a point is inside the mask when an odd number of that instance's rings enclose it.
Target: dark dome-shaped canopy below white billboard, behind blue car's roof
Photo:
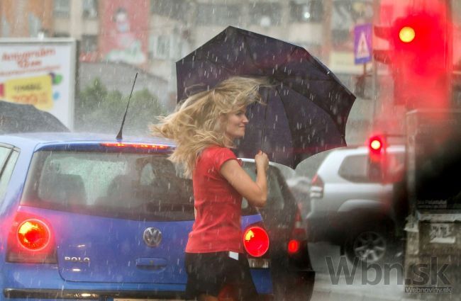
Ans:
[[[32,105],[0,101],[0,134],[13,132],[69,132],[60,120]]]

